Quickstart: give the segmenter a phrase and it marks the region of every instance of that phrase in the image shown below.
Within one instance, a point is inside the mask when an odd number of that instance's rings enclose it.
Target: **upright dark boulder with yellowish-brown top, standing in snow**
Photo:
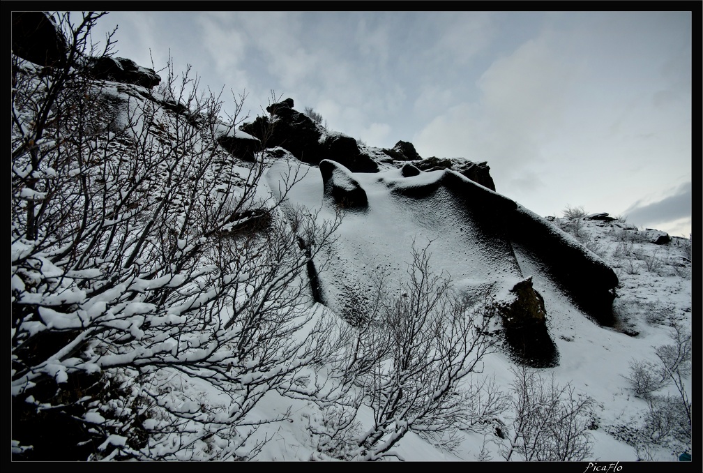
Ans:
[[[532,287],[532,278],[520,281],[510,292],[515,300],[498,306],[498,312],[512,355],[533,368],[556,366],[559,354],[547,330],[544,299]]]

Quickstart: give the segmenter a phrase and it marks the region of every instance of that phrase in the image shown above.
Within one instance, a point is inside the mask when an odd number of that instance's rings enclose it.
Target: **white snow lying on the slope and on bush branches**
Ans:
[[[134,89],[133,87],[123,88]],[[110,93],[118,98],[124,98],[120,86],[105,83],[103,93]],[[139,97],[135,94],[134,97]],[[141,103],[141,98],[137,103]],[[130,104],[129,112],[134,112],[136,105]],[[117,117],[117,122],[120,117]],[[134,133],[139,130],[135,129]],[[238,129],[226,129],[221,126],[218,133],[228,136],[256,139]],[[332,135],[332,133],[330,133]],[[379,159],[387,160],[387,156],[375,148],[363,146],[368,154]],[[307,208],[309,214],[316,215],[318,221],[333,220],[335,209],[331,202],[323,196],[322,178],[317,167],[290,160],[272,162],[266,172],[265,182],[260,183],[257,194],[266,199],[276,195],[279,183],[292,171],[299,172],[302,179],[288,193],[287,205]],[[334,159],[334,157],[330,157]],[[243,164],[237,167],[242,176],[247,176],[248,169]],[[634,428],[640,425],[647,404],[637,399],[628,387],[626,375],[633,360],[654,361],[654,347],[671,343],[671,328],[668,317],[680,320],[687,328],[692,326],[692,261],[686,256],[686,245],[690,240],[674,238],[667,245],[655,245],[652,239],[659,236],[657,231],[638,231],[621,221],[599,221],[582,219],[581,240],[562,230],[566,228],[569,219],[548,221],[529,209],[517,205],[517,212],[522,212],[530,219],[550,226],[555,238],[567,240],[570,245],[585,250],[584,241],[589,241],[586,257],[593,261],[602,261],[615,269],[619,278],[617,298],[614,301],[614,311],[619,316],[619,326],[607,328],[595,323],[586,313],[583,313],[572,300],[561,290],[560,285],[552,280],[543,270],[541,262],[519,245],[512,245],[509,240],[483,233],[481,225],[470,211],[459,205],[448,188],[441,185],[441,179],[446,174],[456,174],[453,171],[420,172],[418,176],[404,177],[399,169],[384,167],[379,173],[355,173],[354,179],[366,191],[368,208],[361,212],[346,212],[337,231],[337,240],[328,252],[316,257],[316,264],[329,259],[332,264],[326,271],[319,274],[323,283],[325,306],[312,304],[308,311],[317,320],[322,314],[337,315],[350,309],[353,300],[347,298],[347,291],[366,297],[373,291],[374,278],[380,273],[389,276],[391,290],[397,290],[398,283],[406,277],[408,263],[411,261],[411,248],[428,246],[431,254],[430,264],[437,274],[451,278],[453,290],[460,293],[478,294],[489,287],[498,300],[507,301],[511,297],[510,289],[525,278],[532,278],[534,288],[542,295],[547,312],[547,325],[550,337],[557,346],[559,363],[554,368],[546,368],[543,372],[554,375],[560,384],[572,384],[579,393],[592,396],[595,401],[595,415],[598,428],[591,431],[593,435],[593,461],[614,462],[637,460],[638,453],[630,444],[613,434],[619,427]],[[338,173],[339,174],[339,173]],[[475,186],[463,176],[456,174],[468,186]],[[335,179],[345,177],[335,175]],[[351,186],[351,184],[349,184]],[[429,189],[422,198],[408,197],[404,191]],[[488,195],[506,199],[500,194],[486,190]],[[27,198],[41,196],[25,195]],[[555,196],[558,201],[558,196]],[[591,214],[595,216],[602,214]],[[621,242],[624,234],[635,238],[629,254],[623,254]],[[586,240],[586,237],[588,240]],[[179,240],[177,245],[183,250],[188,245],[186,240]],[[32,252],[32,243],[13,241],[11,244],[11,260],[18,261]],[[63,273],[48,259],[41,258],[42,273],[46,278],[97,278],[102,275],[98,269],[72,271]],[[200,274],[205,275],[216,271],[213,266],[201,268]],[[244,281],[247,273],[240,273],[238,278]],[[229,281],[232,276],[224,276]],[[129,290],[145,292],[160,287],[176,287],[183,283],[182,276],[165,275],[152,280],[135,278]],[[199,281],[196,280],[195,284]],[[13,291],[23,292],[25,283],[13,271],[11,278]],[[138,296],[134,301],[116,304],[107,309],[105,301],[110,301],[115,294],[127,290],[127,285],[118,285],[103,292],[98,297],[85,300],[85,293],[79,290],[57,290],[51,296],[42,296],[24,292],[20,303],[41,304],[39,315],[43,324],[38,321],[27,321],[22,325],[30,334],[47,328],[58,330],[79,329],[85,320],[98,316],[112,317],[113,327],[127,330],[132,337],[141,339],[144,336],[141,327],[148,320],[152,327],[163,326],[162,338],[154,340],[150,346],[153,353],[160,352],[167,360],[169,354],[176,356],[178,343],[172,339],[169,326],[186,322],[186,316],[181,315],[186,309],[198,304],[209,302],[217,292],[215,287],[200,287],[200,292],[194,293],[191,299],[183,301],[180,306],[170,306],[165,316],[154,316],[156,306],[140,302]],[[49,306],[63,304],[81,304],[81,310],[76,313],[62,313],[58,307]],[[354,307],[351,307],[354,309]],[[313,321],[314,321],[313,320]],[[14,335],[14,332],[13,332]],[[197,358],[212,348],[209,333],[191,340],[193,348],[184,359]],[[222,359],[232,354],[231,346],[223,346]],[[138,353],[104,354],[98,357],[96,363],[86,363],[83,369],[97,372],[101,367],[130,363]],[[180,354],[179,354],[180,356]],[[45,372],[56,378],[56,382],[67,382],[67,375],[77,359],[59,363],[51,361],[44,366]],[[513,381],[510,368],[515,362],[505,351],[488,354],[483,360],[483,373],[478,377],[494,377],[498,386],[505,391],[510,389]],[[280,366],[271,372],[248,372],[240,377],[241,384],[250,384],[261,377],[273,376]],[[325,367],[317,367],[316,372],[304,372],[297,377],[304,384],[305,376],[325,384]],[[696,371],[697,372],[697,371]],[[195,377],[188,377],[183,372],[170,368],[157,373],[160,379],[163,399],[162,405],[175,406],[184,415],[197,415],[201,405],[197,400],[209,403],[213,412],[219,413],[221,420],[226,420],[228,407],[227,393],[215,389],[212,384]],[[30,382],[31,384],[31,382]],[[20,391],[13,384],[13,395]],[[692,380],[686,380],[689,396],[692,390]],[[669,389],[671,394],[673,391]],[[326,409],[326,410],[325,410]],[[321,406],[303,399],[292,399],[277,391],[267,391],[256,403],[247,417],[247,422],[259,425],[252,436],[253,441],[263,441],[261,451],[252,460],[261,461],[309,461],[330,460],[318,451],[321,437],[311,435],[311,432],[322,432],[328,428],[326,422],[334,420],[333,407]],[[501,420],[510,422],[510,412],[501,415]],[[89,423],[100,424],[104,417],[97,412],[89,412],[84,416]],[[275,422],[269,422],[276,420]],[[359,422],[362,429],[368,428],[373,422],[373,413],[367,406],[359,409]],[[147,428],[157,429],[160,420],[148,418],[144,421]],[[398,426],[402,425],[399,421]],[[246,427],[244,427],[246,429]],[[414,432],[409,432],[392,448],[394,456],[387,460],[408,461],[501,461],[501,446],[505,443],[495,435],[477,432],[459,432],[459,446],[453,451],[442,449],[440,446],[421,438]],[[629,439],[631,440],[631,439]],[[127,439],[124,436],[110,435],[98,450],[104,451],[108,446],[124,446]],[[212,445],[200,441],[193,448],[200,451],[194,453],[195,458],[207,458],[205,449],[228,448],[226,439],[214,436]],[[15,445],[13,451],[21,450],[24,446]],[[652,448],[652,460],[673,461],[684,450],[690,452],[690,445],[669,443]]]

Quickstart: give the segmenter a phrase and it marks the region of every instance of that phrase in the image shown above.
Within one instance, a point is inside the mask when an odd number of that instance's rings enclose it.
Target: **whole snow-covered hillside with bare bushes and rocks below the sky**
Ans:
[[[86,64],[13,56],[13,460],[690,455],[690,238]]]

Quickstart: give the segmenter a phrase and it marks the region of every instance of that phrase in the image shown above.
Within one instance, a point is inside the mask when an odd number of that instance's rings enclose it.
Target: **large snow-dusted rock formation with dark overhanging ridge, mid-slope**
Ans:
[[[548,309],[522,260],[541,268],[592,320],[614,323],[618,278],[612,268],[508,197],[457,171],[420,171],[410,162],[378,174],[352,173],[331,160],[319,168],[317,178],[309,172],[300,183],[304,191],[291,191],[293,205],[314,208],[319,200],[311,189],[318,188],[328,197],[337,193],[328,205],[349,198],[364,209],[344,217],[328,266],[315,281],[318,302],[350,323],[364,313],[379,271],[402,273],[396,265],[406,261],[407,240],[419,235],[440,255],[435,271],[451,274],[458,290],[474,299],[486,290],[500,295],[505,341],[511,355],[529,365],[553,366],[560,356],[546,325]]]

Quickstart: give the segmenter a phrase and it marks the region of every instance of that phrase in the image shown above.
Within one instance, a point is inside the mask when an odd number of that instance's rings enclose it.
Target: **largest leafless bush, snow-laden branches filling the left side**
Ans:
[[[169,64],[164,89],[183,113],[120,84],[129,98],[109,127],[103,91],[76,59],[100,17],[63,15],[75,43],[65,67],[15,77],[13,439],[18,451],[32,444],[39,415],[61,455],[87,446],[74,459],[247,458],[262,445],[250,440],[257,426],[285,413],[247,414],[330,346],[305,272],[340,221],[282,212],[302,179],[292,170],[279,195],[259,198],[260,155],[236,176],[217,144],[219,96],[200,93],[190,70]],[[235,101],[224,132],[238,125]],[[198,383],[226,401],[179,388]]]

